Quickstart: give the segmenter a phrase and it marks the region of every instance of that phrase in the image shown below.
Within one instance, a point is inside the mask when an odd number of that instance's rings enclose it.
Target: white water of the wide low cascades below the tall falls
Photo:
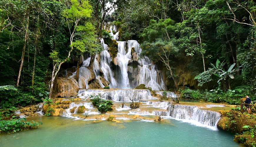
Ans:
[[[157,91],[157,93],[162,94],[162,91]],[[160,115],[163,116],[164,119],[176,119],[178,121],[191,123],[195,126],[207,127],[212,130],[217,130],[217,122],[220,119],[220,113],[215,111],[200,109],[197,106],[187,106],[172,104],[172,102],[169,101],[159,101],[159,98],[152,96],[148,89],[80,89],[78,91],[78,96],[83,101],[79,100],[70,103],[69,108],[66,109],[66,113],[63,113],[63,116],[72,117],[79,106],[85,106],[86,110],[84,114],[99,114],[97,109],[92,106],[92,103],[88,101],[90,95],[95,94],[100,95],[106,100],[113,101],[118,113],[110,114],[136,114],[140,116]],[[169,92],[168,95],[174,95],[174,93]],[[140,107],[137,109],[131,109],[129,107],[131,99],[133,99],[133,101],[140,102]],[[122,102],[123,108],[120,102]],[[206,107],[215,106],[221,107],[223,105],[206,105]],[[73,113],[70,112],[71,109],[73,109]],[[124,116],[121,115],[121,117]]]

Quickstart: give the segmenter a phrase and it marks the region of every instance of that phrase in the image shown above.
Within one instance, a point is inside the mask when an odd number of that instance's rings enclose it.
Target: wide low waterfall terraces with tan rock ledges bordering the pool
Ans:
[[[106,120],[109,116],[115,119],[156,121],[159,116],[162,116],[164,119],[176,119],[196,126],[217,130],[217,123],[220,119],[220,113],[217,111],[205,110],[202,109],[202,106],[174,104],[171,101],[163,101],[160,100],[162,91],[156,91],[156,93],[160,94],[152,96],[151,91],[148,89],[80,89],[78,91],[79,98],[55,98],[55,104],[43,106],[43,111],[46,112],[49,108],[53,108],[53,116],[66,116],[85,121]],[[100,113],[92,105],[90,101],[91,95],[100,95],[101,98],[113,101],[113,111]],[[168,96],[176,97],[173,93],[169,93]],[[131,100],[137,102],[139,107],[132,109]],[[224,106],[207,103],[204,108],[210,107]],[[41,109],[37,108],[35,112],[37,110],[39,111],[38,114],[42,114]],[[26,116],[26,113],[21,113],[21,111],[17,113],[22,117]]]

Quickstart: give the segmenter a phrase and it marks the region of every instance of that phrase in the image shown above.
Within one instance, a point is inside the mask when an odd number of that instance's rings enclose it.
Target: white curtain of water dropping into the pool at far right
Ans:
[[[169,105],[170,116],[197,126],[205,126],[217,130],[220,113],[199,109],[197,106]]]

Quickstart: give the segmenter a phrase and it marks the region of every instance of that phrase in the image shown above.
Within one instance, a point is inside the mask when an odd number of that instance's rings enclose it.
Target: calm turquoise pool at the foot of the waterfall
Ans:
[[[1,147],[239,147],[232,134],[212,131],[176,120],[164,123],[124,121],[113,123],[64,117],[33,118],[38,129],[1,134]]]

